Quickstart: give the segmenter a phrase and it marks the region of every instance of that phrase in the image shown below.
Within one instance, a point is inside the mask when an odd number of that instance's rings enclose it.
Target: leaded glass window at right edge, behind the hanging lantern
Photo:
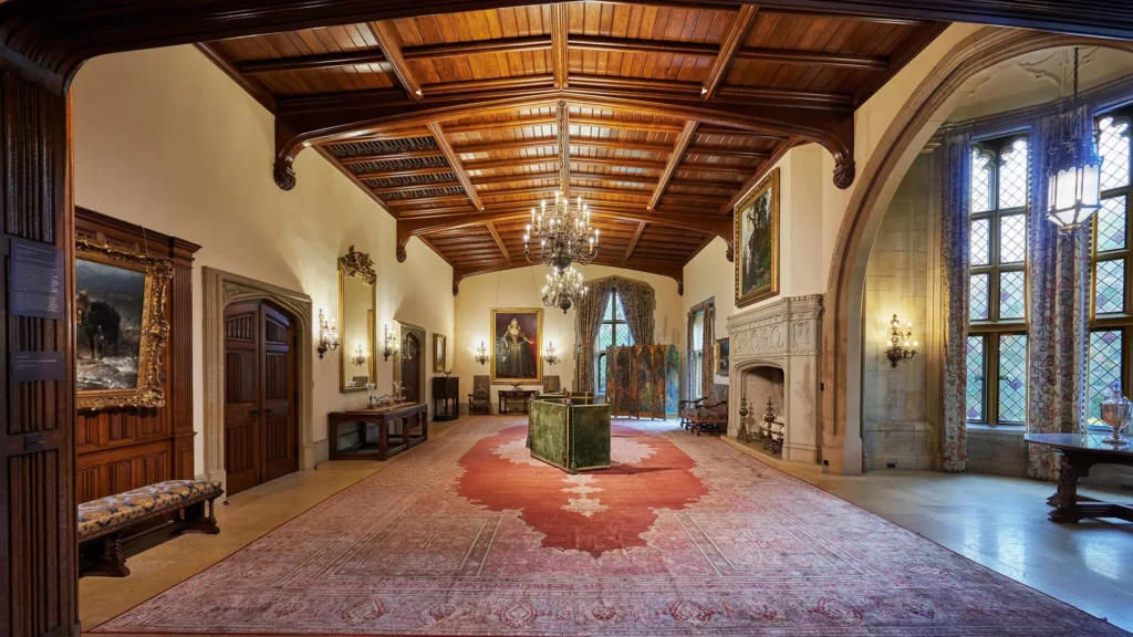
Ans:
[[[1130,120],[1133,107],[1123,107],[1094,120],[1101,154],[1101,210],[1093,218],[1093,288],[1090,304],[1090,351],[1087,360],[1085,421],[1101,426],[1099,404],[1118,381],[1125,394],[1133,392],[1131,338],[1133,338],[1133,236],[1130,201]]]

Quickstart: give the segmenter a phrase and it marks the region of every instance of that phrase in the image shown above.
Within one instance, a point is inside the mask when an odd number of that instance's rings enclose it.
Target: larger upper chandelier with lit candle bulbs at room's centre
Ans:
[[[531,240],[538,239],[538,252],[531,252]],[[576,205],[555,193],[555,203],[539,204],[539,212],[531,209],[531,222],[523,235],[523,255],[528,263],[552,265],[565,270],[572,263],[586,265],[598,254],[598,229],[590,226],[590,211],[579,197]]]

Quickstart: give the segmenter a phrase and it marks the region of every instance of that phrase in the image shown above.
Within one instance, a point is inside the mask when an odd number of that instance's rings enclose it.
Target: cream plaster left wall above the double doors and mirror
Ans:
[[[272,180],[272,114],[196,49],[94,59],[78,74],[74,100],[76,203],[203,246],[193,277],[198,472],[203,266],[306,292],[316,313],[333,317],[337,258],[353,244],[377,269],[378,334],[394,318],[453,333],[452,269],[416,240],[409,261],[398,263],[393,218],[317,153],[301,153],[298,185],[280,190]],[[326,414],[363,394],[339,393],[338,353],[314,362],[313,434],[322,441]],[[392,379],[392,359],[378,358],[380,390],[391,391]]]

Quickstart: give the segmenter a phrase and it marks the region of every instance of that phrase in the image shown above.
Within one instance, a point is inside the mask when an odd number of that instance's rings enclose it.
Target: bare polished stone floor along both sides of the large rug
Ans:
[[[517,417],[517,423],[521,422],[522,417]],[[434,427],[438,431],[443,430]],[[1045,500],[1053,491],[1050,484],[925,472],[843,477],[823,474],[818,467],[772,464],[988,568],[1133,630],[1133,524],[1087,520],[1066,526],[1047,521]],[[128,561],[133,574],[123,579],[82,579],[83,626],[94,628],[201,572],[386,465],[324,462],[317,470],[233,495],[228,506],[218,507],[220,535],[190,534],[150,549]],[[1114,493],[1099,495],[1122,499]]]

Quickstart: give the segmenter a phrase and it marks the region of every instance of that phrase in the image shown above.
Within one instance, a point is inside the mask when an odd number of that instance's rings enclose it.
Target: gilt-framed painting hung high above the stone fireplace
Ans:
[[[733,214],[735,306],[780,294],[780,170],[740,201]]]

